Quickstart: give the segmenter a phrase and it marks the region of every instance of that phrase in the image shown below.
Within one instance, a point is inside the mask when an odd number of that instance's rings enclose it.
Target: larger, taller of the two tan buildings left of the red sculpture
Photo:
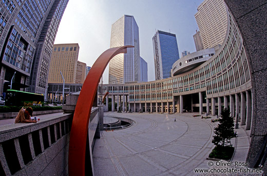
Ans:
[[[65,83],[76,83],[79,49],[78,44],[56,44],[53,46],[48,75],[49,83],[63,83],[60,71]]]

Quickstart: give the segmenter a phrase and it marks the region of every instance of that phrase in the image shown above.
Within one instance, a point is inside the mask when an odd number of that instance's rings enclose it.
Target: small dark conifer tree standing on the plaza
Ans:
[[[221,115],[220,123],[214,128],[215,135],[212,143],[216,146],[232,146],[230,140],[234,138],[234,120],[229,109],[223,109]]]

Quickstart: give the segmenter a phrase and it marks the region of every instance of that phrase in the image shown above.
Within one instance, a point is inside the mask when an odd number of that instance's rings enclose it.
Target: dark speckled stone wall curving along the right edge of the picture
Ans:
[[[267,1],[242,1],[224,0],[234,15],[249,60],[251,80],[253,84],[253,113],[251,130],[251,145],[247,162],[250,167],[255,167],[260,154],[264,151],[263,144],[267,134],[267,62],[266,62],[266,38],[267,38]],[[265,161],[264,161],[265,162]],[[265,162],[263,171],[267,171]],[[258,165],[258,163],[257,163]],[[257,167],[257,166],[256,166]]]

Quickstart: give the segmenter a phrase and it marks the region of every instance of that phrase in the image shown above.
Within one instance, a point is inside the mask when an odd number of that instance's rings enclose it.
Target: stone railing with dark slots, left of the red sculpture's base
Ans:
[[[0,127],[0,175],[67,175],[73,114]]]

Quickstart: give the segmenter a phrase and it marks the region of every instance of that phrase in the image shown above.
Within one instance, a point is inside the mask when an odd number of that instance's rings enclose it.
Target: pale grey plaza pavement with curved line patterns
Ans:
[[[211,169],[206,158],[214,147],[212,139],[218,122],[193,114],[105,112],[104,116],[129,118],[135,124],[126,129],[101,131],[93,149],[95,174],[197,175],[195,168]],[[236,146],[233,161],[245,162],[249,137],[243,128],[236,131],[238,138],[232,140]]]

